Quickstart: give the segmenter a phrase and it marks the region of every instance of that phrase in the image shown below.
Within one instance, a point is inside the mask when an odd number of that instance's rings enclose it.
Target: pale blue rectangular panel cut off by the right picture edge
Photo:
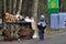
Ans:
[[[59,29],[66,29],[66,13],[59,13]]]

